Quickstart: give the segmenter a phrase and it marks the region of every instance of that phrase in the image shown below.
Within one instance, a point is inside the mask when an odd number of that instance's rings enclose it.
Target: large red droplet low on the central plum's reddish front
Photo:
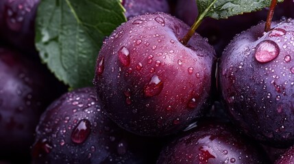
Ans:
[[[152,97],[160,94],[163,88],[163,82],[154,74],[151,81],[144,86],[144,94],[146,97]]]

